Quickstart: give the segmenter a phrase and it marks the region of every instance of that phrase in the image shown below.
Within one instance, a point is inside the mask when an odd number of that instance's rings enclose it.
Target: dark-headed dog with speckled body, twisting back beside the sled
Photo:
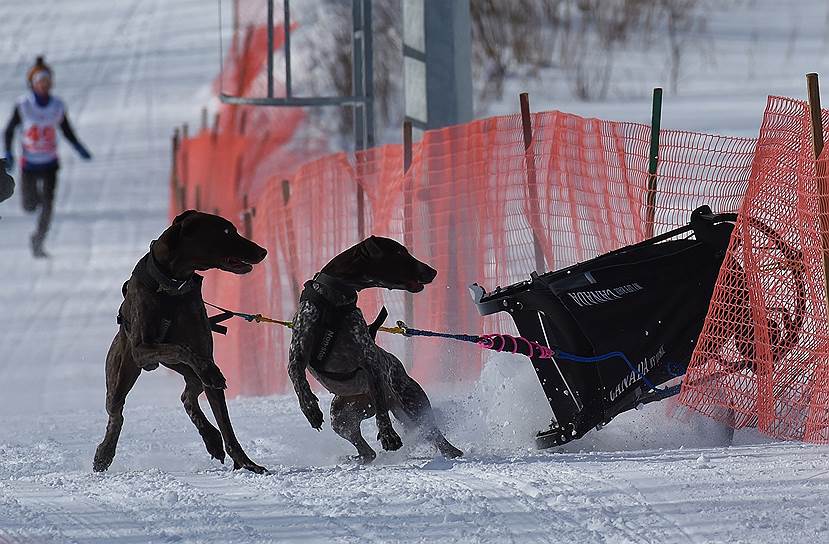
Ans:
[[[354,444],[361,462],[371,462],[377,456],[360,432],[364,419],[375,417],[383,449],[396,450],[403,445],[389,411],[404,425],[418,428],[445,457],[463,454],[438,429],[420,385],[397,357],[374,342],[385,315],[369,326],[356,306],[362,289],[384,287],[418,293],[436,275],[399,243],[372,236],[334,257],[305,283],[294,317],[288,375],[300,408],[314,429],[322,427],[323,416],[305,371],[334,394],[331,427]]]

